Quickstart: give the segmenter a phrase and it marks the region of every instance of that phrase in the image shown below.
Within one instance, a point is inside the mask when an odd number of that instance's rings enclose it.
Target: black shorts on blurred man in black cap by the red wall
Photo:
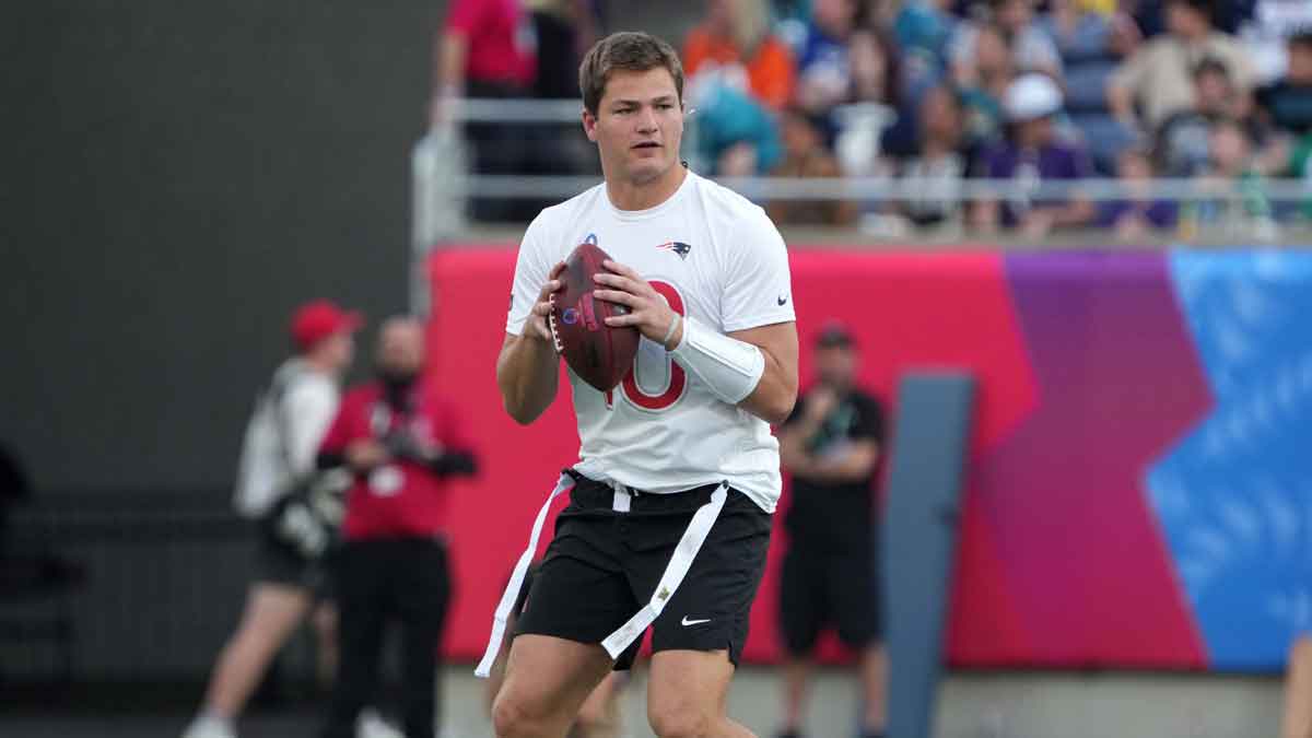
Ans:
[[[827,626],[849,649],[880,640],[879,587],[874,546],[815,550],[794,541],[783,557],[779,626],[790,654],[804,655]]]

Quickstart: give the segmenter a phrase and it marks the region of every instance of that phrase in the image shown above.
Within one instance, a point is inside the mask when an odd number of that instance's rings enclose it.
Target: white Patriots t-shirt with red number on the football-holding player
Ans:
[[[594,239],[670,306],[723,334],[795,319],[789,255],[761,207],[687,172],[669,200],[619,210],[605,184],[547,207],[523,234],[505,330],[520,335],[551,267]],[[643,339],[634,370],[600,393],[569,372],[589,478],[651,492],[728,481],[762,510],[779,499],[779,444],[770,425],[731,406]]]

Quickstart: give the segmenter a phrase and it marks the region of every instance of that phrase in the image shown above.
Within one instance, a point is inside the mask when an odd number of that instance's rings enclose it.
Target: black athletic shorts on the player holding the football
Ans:
[[[569,506],[533,578],[516,634],[601,643],[647,604],[693,513],[718,485],[670,495],[634,495],[628,512],[611,510],[607,485],[575,475]],[[652,624],[652,650],[724,649],[736,666],[748,615],[765,571],[770,515],[743,492],[728,499],[682,584]],[[621,654],[626,670],[642,638]]]

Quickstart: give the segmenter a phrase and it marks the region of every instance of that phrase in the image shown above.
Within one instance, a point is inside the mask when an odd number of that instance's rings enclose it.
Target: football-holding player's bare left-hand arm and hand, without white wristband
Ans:
[[[560,263],[551,268],[523,331],[518,336],[506,334],[496,360],[501,404],[521,425],[537,420],[556,399],[560,360],[547,327],[547,315],[551,314],[551,295],[560,290],[559,277],[564,267]]]

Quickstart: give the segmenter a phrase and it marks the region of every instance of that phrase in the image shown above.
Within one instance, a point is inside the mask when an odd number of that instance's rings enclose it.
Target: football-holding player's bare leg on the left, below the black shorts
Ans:
[[[597,643],[517,637],[510,643],[505,683],[492,704],[497,738],[563,738],[610,670],[610,655]]]

